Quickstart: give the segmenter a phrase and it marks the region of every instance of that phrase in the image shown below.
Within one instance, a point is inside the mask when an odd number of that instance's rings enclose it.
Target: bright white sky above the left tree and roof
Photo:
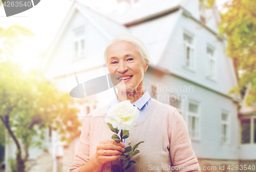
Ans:
[[[108,12],[117,7],[116,0],[79,1],[102,12]],[[227,1],[217,0],[217,6],[221,7]],[[71,5],[72,1],[69,0],[41,0],[35,7],[9,17],[6,17],[3,5],[0,7],[0,27],[7,28],[18,23],[20,26],[27,27],[35,33],[35,37],[24,42],[16,52],[20,61],[28,67],[40,65],[35,57],[47,51]]]

